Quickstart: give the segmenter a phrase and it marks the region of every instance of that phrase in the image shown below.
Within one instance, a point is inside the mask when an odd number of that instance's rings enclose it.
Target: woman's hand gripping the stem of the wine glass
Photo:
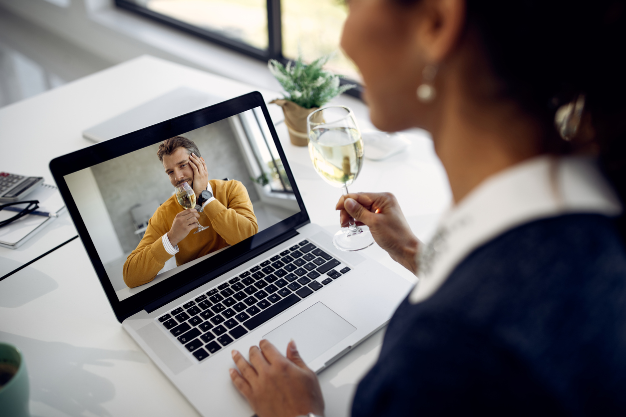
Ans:
[[[409,228],[398,200],[391,193],[350,193],[337,203],[341,210],[341,227],[348,226],[349,218],[357,226],[366,225],[378,246],[385,249],[394,261],[416,273],[419,240]]]

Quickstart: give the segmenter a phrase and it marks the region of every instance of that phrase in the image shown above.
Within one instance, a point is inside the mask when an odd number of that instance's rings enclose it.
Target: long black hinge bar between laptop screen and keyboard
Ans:
[[[266,243],[260,245],[259,247],[252,249],[246,254],[246,256],[241,256],[240,258],[233,259],[229,263],[224,264],[222,268],[216,269],[215,271],[211,271],[210,273],[203,275],[202,277],[196,279],[195,281],[192,281],[186,285],[183,285],[182,287],[177,288],[174,291],[171,291],[170,293],[166,294],[165,296],[161,298],[155,299],[155,301],[152,301],[151,303],[146,304],[144,306],[146,313],[152,313],[156,309],[161,308],[162,306],[165,306],[165,304],[167,303],[170,303],[170,301],[172,301],[173,299],[177,299],[183,294],[187,294],[188,292],[193,291],[193,289],[196,289],[206,284],[211,279],[217,276],[220,276],[222,274],[225,274],[231,269],[237,268],[237,266],[246,263],[250,259],[254,258],[255,256],[259,256],[265,251],[269,251],[269,249],[272,249],[275,246],[278,246],[279,244],[285,241],[288,241],[289,239],[293,238],[294,236],[297,236],[298,234],[299,233],[295,231],[295,229],[290,229],[289,231],[286,231],[280,236],[277,236],[276,238],[270,241],[267,241]]]

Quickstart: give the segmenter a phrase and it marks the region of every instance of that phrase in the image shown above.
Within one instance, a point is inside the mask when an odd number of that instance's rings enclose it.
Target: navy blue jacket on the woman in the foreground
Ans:
[[[405,299],[353,417],[626,414],[626,253],[613,221],[512,229]]]

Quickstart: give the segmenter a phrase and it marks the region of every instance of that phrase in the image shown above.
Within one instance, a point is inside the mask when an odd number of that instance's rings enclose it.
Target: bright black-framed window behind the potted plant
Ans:
[[[116,0],[149,16],[257,59],[286,62],[301,51],[312,61],[335,53],[327,68],[360,81],[339,48],[347,9],[343,0]],[[358,95],[358,89],[348,91]]]

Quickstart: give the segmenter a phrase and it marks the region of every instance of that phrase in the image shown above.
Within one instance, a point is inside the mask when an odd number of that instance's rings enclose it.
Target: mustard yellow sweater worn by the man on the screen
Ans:
[[[229,244],[239,243],[259,231],[257,218],[244,184],[239,181],[208,181],[215,200],[208,203],[198,221],[210,228],[194,234],[191,231],[178,242],[176,264],[182,265]],[[170,231],[176,215],[184,209],[172,196],[156,209],[137,248],[124,264],[124,282],[133,288],[152,281],[172,255],[163,248],[162,236]]]

